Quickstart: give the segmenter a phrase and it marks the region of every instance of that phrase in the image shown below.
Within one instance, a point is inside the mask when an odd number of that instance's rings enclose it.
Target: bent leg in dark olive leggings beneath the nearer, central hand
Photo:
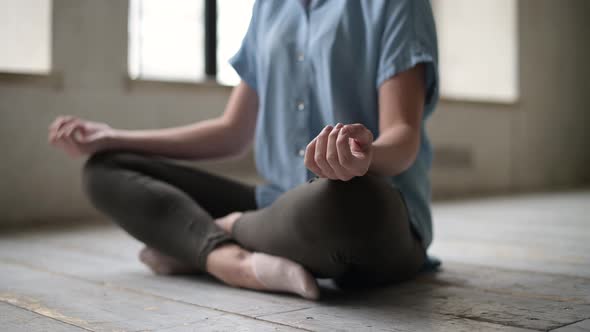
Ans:
[[[425,251],[387,178],[315,179],[226,226],[248,250],[286,257],[345,288],[407,280]]]

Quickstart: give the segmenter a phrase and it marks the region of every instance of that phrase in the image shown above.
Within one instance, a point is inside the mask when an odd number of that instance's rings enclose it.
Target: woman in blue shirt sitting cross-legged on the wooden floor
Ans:
[[[88,155],[94,206],[146,247],[159,274],[317,299],[415,276],[432,241],[438,96],[428,0],[258,0],[232,65],[242,81],[215,119],[121,130],[58,117],[50,142]],[[256,187],[180,165],[255,142]]]

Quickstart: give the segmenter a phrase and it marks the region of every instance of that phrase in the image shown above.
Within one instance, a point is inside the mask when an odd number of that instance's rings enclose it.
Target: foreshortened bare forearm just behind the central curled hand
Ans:
[[[420,145],[419,130],[406,124],[382,132],[373,142],[373,159],[369,171],[394,176],[408,169],[416,159]]]

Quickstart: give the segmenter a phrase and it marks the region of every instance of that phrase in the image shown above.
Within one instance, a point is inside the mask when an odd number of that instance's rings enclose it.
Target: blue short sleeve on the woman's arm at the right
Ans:
[[[388,1],[377,71],[377,87],[417,64],[426,65],[426,104],[438,95],[438,47],[429,0]]]

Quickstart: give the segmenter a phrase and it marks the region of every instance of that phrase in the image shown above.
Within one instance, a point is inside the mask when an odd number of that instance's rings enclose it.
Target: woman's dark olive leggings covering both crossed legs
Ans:
[[[406,280],[425,259],[399,191],[374,175],[316,179],[263,209],[251,186],[132,152],[91,156],[83,180],[94,206],[125,231],[201,271],[212,250],[236,242],[344,287]],[[214,219],[235,211],[247,212],[226,234]]]

